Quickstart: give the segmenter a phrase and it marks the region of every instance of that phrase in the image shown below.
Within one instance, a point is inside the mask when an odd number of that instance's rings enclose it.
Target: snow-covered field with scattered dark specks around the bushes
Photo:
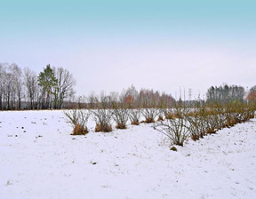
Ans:
[[[152,124],[71,136],[62,111],[0,112],[0,198],[256,198],[256,120],[188,140]]]

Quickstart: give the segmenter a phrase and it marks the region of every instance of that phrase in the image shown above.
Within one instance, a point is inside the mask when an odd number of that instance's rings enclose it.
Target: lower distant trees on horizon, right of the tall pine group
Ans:
[[[132,85],[127,90],[123,92],[109,92],[106,95],[105,92],[101,92],[100,95],[90,94],[89,96],[80,96],[78,101],[78,106],[80,108],[97,108],[100,101],[104,98],[106,106],[111,108],[111,103],[115,101],[119,106],[126,106],[130,108],[167,108],[174,107],[176,100],[172,98],[171,94],[166,94],[165,92],[160,93],[149,89],[136,90]],[[180,101],[181,99],[179,99]],[[187,106],[195,107],[198,100],[186,100],[184,101]],[[228,104],[229,102],[252,102],[256,103],[256,86],[253,86],[249,92],[246,92],[243,86],[238,85],[228,85],[223,86],[211,86],[206,92],[207,103],[220,103]]]

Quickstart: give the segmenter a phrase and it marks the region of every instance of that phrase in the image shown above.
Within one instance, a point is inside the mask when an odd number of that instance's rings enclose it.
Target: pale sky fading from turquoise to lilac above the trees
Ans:
[[[254,0],[1,1],[0,62],[68,68],[77,95],[134,84],[195,98],[256,84],[255,21]]]

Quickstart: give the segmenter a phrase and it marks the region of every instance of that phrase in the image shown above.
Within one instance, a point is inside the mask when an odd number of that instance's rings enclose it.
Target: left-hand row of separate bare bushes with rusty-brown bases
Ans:
[[[99,108],[99,109],[72,109],[64,111],[67,122],[73,127],[72,135],[84,135],[88,133],[87,123],[92,116],[95,121],[95,130],[101,132],[113,131],[112,123],[116,123],[116,129],[126,129],[128,123],[139,125],[140,123],[155,123],[160,111],[156,108]],[[159,117],[159,116],[158,116]]]

